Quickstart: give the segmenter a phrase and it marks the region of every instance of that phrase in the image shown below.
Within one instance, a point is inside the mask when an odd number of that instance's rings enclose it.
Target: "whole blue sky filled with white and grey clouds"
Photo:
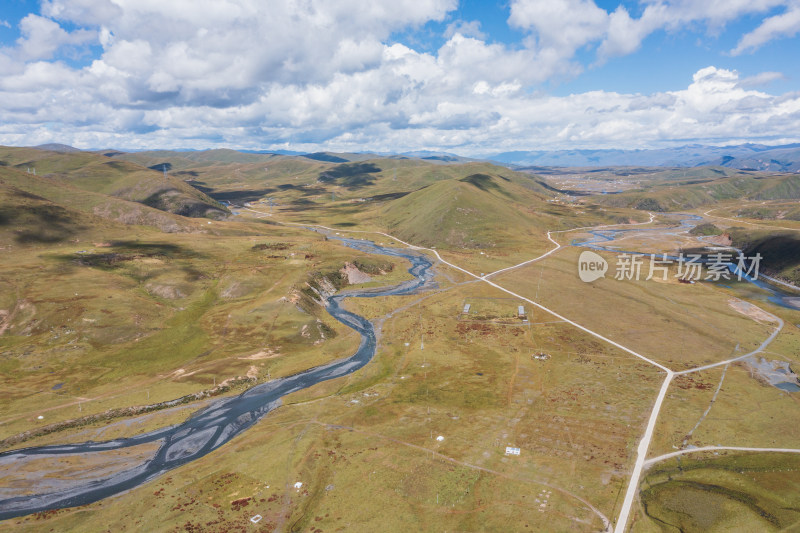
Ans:
[[[800,142],[800,0],[2,0],[0,144]]]

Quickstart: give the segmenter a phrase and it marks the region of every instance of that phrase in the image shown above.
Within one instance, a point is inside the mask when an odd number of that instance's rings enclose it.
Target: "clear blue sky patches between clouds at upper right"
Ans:
[[[642,6],[635,1],[596,2],[598,7],[613,11],[619,5],[631,13],[641,15]],[[587,69],[577,77],[552,80],[546,89],[553,94],[570,94],[585,91],[617,91],[650,93],[678,90],[686,80],[709,65],[739,71],[742,76],[754,76],[764,71],[783,72],[785,79],[776,80],[764,89],[774,94],[800,89],[800,80],[793,75],[792,65],[800,54],[800,36],[778,39],[767,43],[753,53],[732,57],[729,52],[739,38],[753,31],[765,15],[780,13],[774,7],[758,15],[745,15],[709,31],[703,23],[688,25],[677,31],[657,31],[648,36],[635,54],[615,57],[602,66],[592,66],[596,47],[579,51]],[[399,42],[419,42],[427,50],[436,50],[444,42],[447,26],[452,19],[480,22],[480,30],[488,41],[519,46],[526,33],[508,24],[510,13],[507,1],[468,0],[459,2],[458,9],[442,22],[430,22],[421,29],[412,29],[395,37]]]

